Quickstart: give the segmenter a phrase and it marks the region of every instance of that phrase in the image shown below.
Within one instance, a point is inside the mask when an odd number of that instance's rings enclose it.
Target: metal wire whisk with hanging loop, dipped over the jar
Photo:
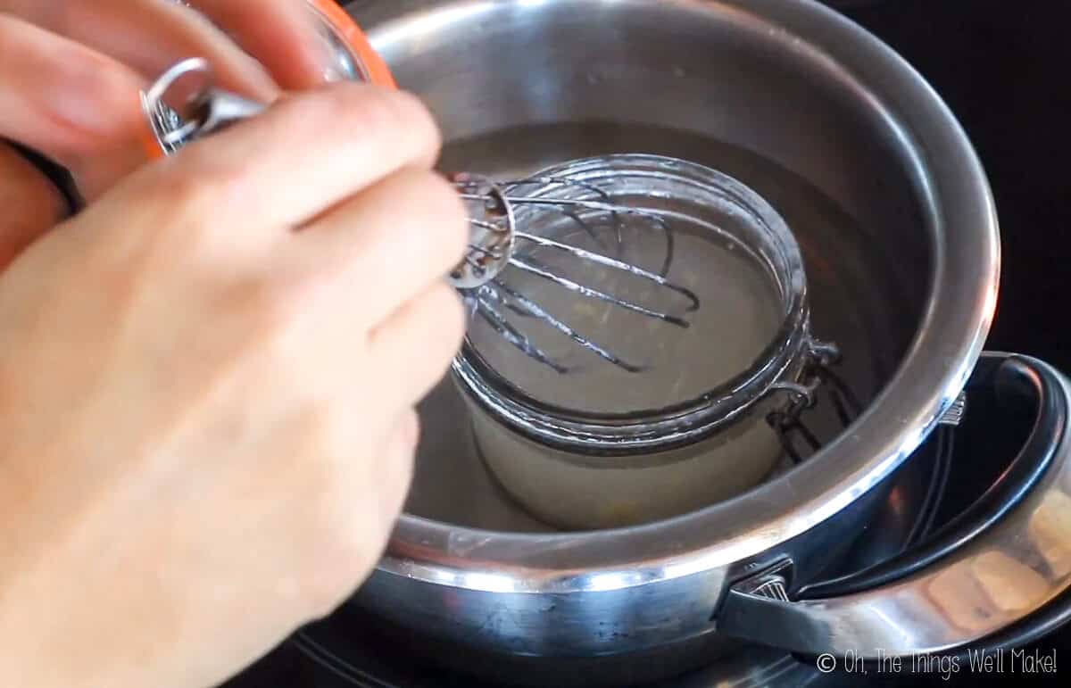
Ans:
[[[196,77],[198,80],[196,88],[185,90],[191,95],[186,98],[184,111],[180,116],[166,103],[165,99],[176,84],[187,76]],[[155,145],[159,146],[160,152],[164,155],[172,154],[186,144],[208,136],[236,121],[254,117],[266,108],[266,105],[261,103],[214,88],[209,64],[199,58],[184,60],[165,72],[147,92],[142,93],[141,100]],[[562,287],[564,290],[561,291],[559,298],[593,299],[608,306],[624,309],[670,326],[689,327],[689,323],[681,316],[586,286],[565,274],[556,272],[546,263],[532,255],[533,249],[563,252],[590,266],[599,266],[607,270],[618,271],[621,274],[629,274],[659,288],[668,289],[684,300],[685,308],[682,309],[682,312],[690,313],[699,309],[699,299],[692,290],[675,284],[666,278],[673,259],[674,239],[673,231],[662,215],[616,204],[608,193],[598,186],[562,177],[536,176],[513,181],[493,181],[486,177],[468,173],[451,174],[448,177],[466,203],[471,230],[471,239],[465,258],[451,272],[449,280],[455,288],[462,291],[472,313],[481,317],[495,332],[526,356],[559,373],[568,373],[573,370],[572,367],[547,354],[516,325],[510,323],[504,310],[553,328],[576,345],[619,369],[633,373],[645,370],[640,364],[625,361],[609,346],[577,331],[529,296],[508,284],[501,276],[503,270],[510,267]],[[544,188],[557,185],[561,189],[583,191],[586,197],[557,198],[523,193],[525,189],[530,189],[533,185]],[[642,218],[649,224],[647,228],[664,234],[666,258],[661,273],[606,255],[609,251],[594,252],[526,231],[525,228],[517,225],[517,209],[523,206],[561,212],[577,223],[577,226],[592,238],[594,238],[594,234],[591,230],[590,215],[608,218],[610,226],[614,228],[613,234],[618,249],[623,242],[624,219],[629,216]],[[585,213],[588,216],[584,216]]]

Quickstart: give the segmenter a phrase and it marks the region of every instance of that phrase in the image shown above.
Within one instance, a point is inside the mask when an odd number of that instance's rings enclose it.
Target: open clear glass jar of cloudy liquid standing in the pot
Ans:
[[[826,350],[811,338],[802,258],[778,212],[723,174],[652,155],[570,162],[507,191],[534,201],[514,208],[522,233],[608,251],[692,289],[699,308],[688,328],[674,328],[508,267],[498,281],[510,290],[646,365],[612,367],[569,338],[540,334],[532,318],[514,318],[568,361],[554,370],[472,317],[453,376],[501,487],[545,523],[594,529],[702,508],[769,475],[783,455],[766,422],[784,401],[774,392],[805,397],[802,371]],[[540,203],[549,198],[613,200],[635,212],[606,225]],[[558,260],[556,271],[586,286],[651,298],[649,284],[609,278],[593,263],[567,268],[561,252],[539,250],[528,257]]]

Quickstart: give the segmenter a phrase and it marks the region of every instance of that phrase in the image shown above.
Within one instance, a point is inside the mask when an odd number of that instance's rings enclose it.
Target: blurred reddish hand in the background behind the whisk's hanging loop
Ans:
[[[207,58],[222,86],[265,102],[335,76],[305,3],[0,0],[0,139],[63,165],[92,200],[144,164],[138,92],[180,59]],[[0,199],[2,269],[65,209],[3,140]]]

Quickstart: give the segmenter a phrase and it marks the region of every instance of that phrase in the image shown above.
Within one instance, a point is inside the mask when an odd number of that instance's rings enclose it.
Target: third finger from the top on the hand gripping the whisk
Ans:
[[[369,360],[384,380],[382,403],[412,405],[446,374],[461,345],[465,316],[457,294],[437,284],[377,327]]]

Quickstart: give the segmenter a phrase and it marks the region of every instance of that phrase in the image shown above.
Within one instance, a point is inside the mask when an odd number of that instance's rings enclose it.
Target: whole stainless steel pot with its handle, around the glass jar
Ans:
[[[453,464],[470,447],[444,386],[424,408],[408,512],[355,604],[514,656],[735,637],[874,657],[986,638],[1067,589],[1071,384],[1024,357],[979,365],[997,301],[993,200],[953,116],[890,49],[811,0],[393,0],[349,11],[437,115],[444,167],[506,174],[657,152],[756,189],[797,234],[816,275],[816,324],[827,318],[821,331],[870,402],[816,455],[738,498],[559,534],[491,502],[466,511],[493,485],[465,483],[470,467]],[[927,549],[810,585],[972,371],[974,390],[1038,405],[1013,469]]]

